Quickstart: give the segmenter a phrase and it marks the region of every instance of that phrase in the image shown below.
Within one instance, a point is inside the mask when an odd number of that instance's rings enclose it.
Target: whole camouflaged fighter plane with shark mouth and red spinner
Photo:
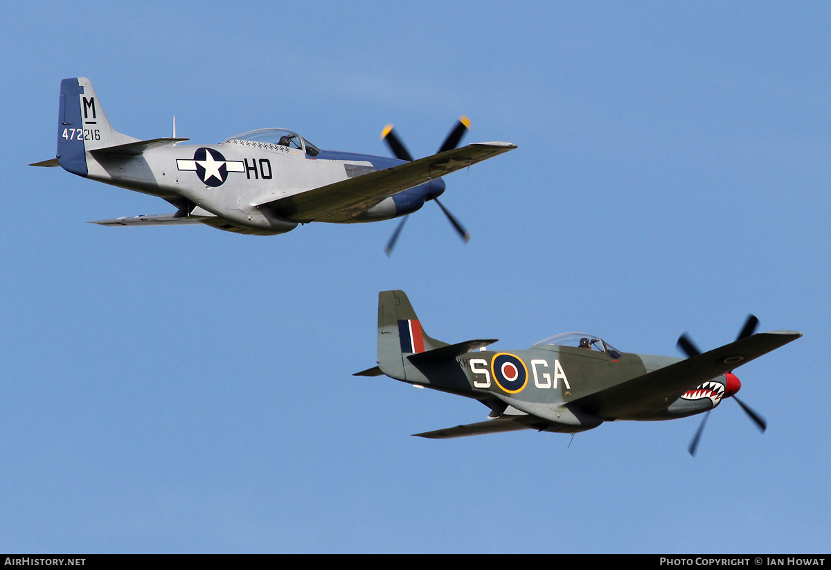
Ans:
[[[386,375],[489,408],[487,420],[416,434],[431,439],[514,430],[574,434],[605,421],[672,420],[709,414],[731,396],[764,431],[765,420],[735,396],[741,382],[732,371],[802,334],[755,334],[756,324],[751,315],[735,342],[706,352],[684,335],[678,346],[686,359],[622,352],[576,332],[530,348],[489,351],[485,347],[496,339],[448,344],[431,338],[406,294],[384,291],[378,296],[378,366],[355,376]],[[690,446],[692,455],[703,425]]]

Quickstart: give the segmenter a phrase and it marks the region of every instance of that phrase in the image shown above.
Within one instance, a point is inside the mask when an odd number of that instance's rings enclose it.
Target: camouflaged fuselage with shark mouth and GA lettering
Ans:
[[[684,359],[613,349],[535,345],[519,351],[468,352],[455,358],[455,366],[404,360],[407,382],[477,400],[496,397],[516,410],[559,424],[568,432],[591,429],[602,421],[671,420],[700,414],[719,405],[727,383],[724,375],[717,376],[672,400],[581,415],[582,398]]]

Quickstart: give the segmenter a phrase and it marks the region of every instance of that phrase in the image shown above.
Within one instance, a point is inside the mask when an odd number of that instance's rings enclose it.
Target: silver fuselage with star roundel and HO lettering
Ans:
[[[246,144],[248,143],[248,144]],[[316,219],[279,215],[258,207],[310,189],[401,165],[382,156],[303,149],[231,139],[219,145],[175,145],[141,155],[87,152],[86,178],[151,194],[176,204],[186,199],[193,215],[212,214],[252,233],[285,233],[297,224],[349,224],[411,214],[445,190],[442,179],[367,204],[360,211],[334,211]],[[216,224],[212,224],[216,225]]]

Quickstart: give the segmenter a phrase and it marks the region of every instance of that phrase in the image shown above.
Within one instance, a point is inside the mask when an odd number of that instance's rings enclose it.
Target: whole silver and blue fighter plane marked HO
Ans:
[[[356,224],[406,219],[435,200],[450,223],[467,232],[440,204],[441,178],[514,150],[505,142],[457,148],[469,122],[462,117],[435,155],[413,160],[387,125],[382,138],[396,158],[322,150],[286,129],[235,135],[218,145],[188,139],[139,140],[114,130],[86,77],[61,81],[57,157],[32,166],[64,170],[105,184],[158,196],[170,214],[93,222],[108,226],[206,224],[235,233],[274,235],[297,224]],[[175,125],[175,123],[174,123]],[[387,253],[401,231],[396,229]]]

